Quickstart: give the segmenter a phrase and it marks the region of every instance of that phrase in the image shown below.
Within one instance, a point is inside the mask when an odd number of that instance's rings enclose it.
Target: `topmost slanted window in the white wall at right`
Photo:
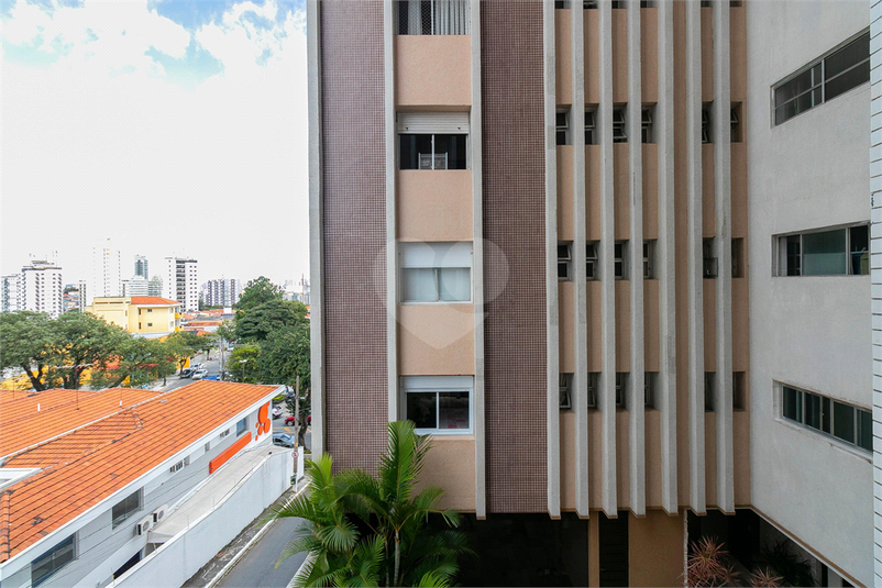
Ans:
[[[789,76],[772,88],[774,124],[870,81],[870,32]]]

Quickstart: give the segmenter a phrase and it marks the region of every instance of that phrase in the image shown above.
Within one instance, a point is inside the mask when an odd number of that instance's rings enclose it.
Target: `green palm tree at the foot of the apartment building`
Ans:
[[[462,533],[427,528],[430,514],[449,528],[460,521],[438,507],[441,488],[415,495],[429,437],[410,421],[389,423],[388,435],[378,477],[362,469],[333,475],[331,457],[322,455],[307,464],[308,493],[272,512],[305,521],[283,554],[308,552],[295,586],[450,586],[456,557],[472,553]]]

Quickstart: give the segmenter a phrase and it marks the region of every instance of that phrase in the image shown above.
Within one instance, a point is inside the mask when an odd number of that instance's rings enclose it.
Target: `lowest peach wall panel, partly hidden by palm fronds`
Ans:
[[[426,456],[418,490],[427,486],[443,488],[440,507],[462,512],[475,511],[475,437],[434,435]]]

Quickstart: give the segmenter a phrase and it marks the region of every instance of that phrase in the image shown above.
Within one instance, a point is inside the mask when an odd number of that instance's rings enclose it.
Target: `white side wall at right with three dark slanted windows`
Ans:
[[[870,86],[779,126],[771,86],[869,24],[861,1],[747,5],[751,502],[872,584],[870,455],[780,420],[773,381],[869,409],[870,278],[772,277],[772,235],[870,220]]]

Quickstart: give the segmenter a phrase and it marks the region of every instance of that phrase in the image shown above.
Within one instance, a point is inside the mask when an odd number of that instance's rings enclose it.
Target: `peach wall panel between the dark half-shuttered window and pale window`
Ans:
[[[403,169],[398,180],[398,238],[472,241],[472,170]]]

